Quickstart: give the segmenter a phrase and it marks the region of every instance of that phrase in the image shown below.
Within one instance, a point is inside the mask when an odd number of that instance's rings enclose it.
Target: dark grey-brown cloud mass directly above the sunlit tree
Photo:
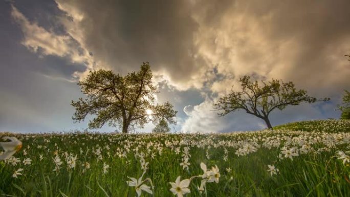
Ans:
[[[126,73],[149,61],[154,71],[163,71],[171,80],[185,83],[203,66],[193,58],[197,50],[193,33],[198,24],[191,17],[188,1],[57,3],[73,16],[65,24],[80,29],[84,46],[102,67]],[[83,15],[81,21],[74,20],[76,13]]]

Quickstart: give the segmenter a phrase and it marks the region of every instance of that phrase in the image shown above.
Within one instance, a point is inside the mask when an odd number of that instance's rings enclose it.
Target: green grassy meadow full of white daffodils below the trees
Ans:
[[[327,120],[206,135],[2,133],[23,148],[0,162],[0,195],[345,197],[349,128]]]

